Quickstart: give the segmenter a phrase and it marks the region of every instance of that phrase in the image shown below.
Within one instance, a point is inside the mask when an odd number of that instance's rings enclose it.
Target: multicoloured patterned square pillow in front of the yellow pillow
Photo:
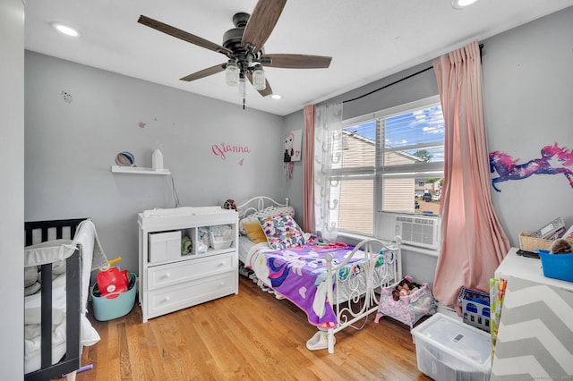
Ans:
[[[260,217],[259,221],[271,249],[278,250],[304,245],[304,233],[292,216]]]

